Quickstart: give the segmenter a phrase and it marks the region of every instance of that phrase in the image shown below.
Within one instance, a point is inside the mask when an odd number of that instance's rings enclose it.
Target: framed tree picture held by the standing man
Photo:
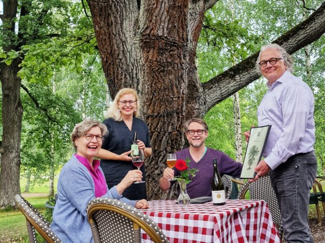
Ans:
[[[240,175],[241,179],[253,179],[254,168],[261,161],[265,144],[271,130],[271,125],[256,127],[250,129],[246,153],[244,157],[243,170]]]

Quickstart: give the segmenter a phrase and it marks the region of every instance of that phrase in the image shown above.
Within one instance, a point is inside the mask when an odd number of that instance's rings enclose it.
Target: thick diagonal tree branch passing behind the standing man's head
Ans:
[[[305,21],[281,35],[273,43],[279,44],[289,54],[293,54],[317,41],[324,32],[325,2]],[[258,52],[202,84],[205,97],[207,97],[206,111],[260,76],[255,70],[257,57]]]

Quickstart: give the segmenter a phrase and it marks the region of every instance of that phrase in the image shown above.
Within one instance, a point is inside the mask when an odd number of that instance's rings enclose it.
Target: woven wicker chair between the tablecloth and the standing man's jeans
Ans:
[[[250,199],[265,200],[269,206],[273,222],[276,224],[282,239],[282,220],[277,197],[271,185],[270,175],[259,177],[254,182],[246,182],[242,185],[237,199],[245,199],[246,192],[249,191]]]

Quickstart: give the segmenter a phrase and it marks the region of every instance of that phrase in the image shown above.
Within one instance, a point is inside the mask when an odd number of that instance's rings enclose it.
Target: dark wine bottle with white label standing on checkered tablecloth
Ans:
[[[225,194],[224,194],[224,186],[221,180],[221,176],[218,172],[217,159],[213,160],[213,179],[212,179],[212,201],[213,205],[224,205],[225,204]]]

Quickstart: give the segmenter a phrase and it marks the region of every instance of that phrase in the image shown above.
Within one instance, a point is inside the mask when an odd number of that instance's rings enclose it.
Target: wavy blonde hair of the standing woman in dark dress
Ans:
[[[139,104],[139,96],[137,94],[137,91],[131,88],[124,88],[121,89],[115,96],[111,106],[108,108],[108,110],[105,113],[105,118],[112,117],[114,120],[121,121],[122,120],[122,115],[121,112],[118,109],[118,102],[121,98],[122,95],[128,95],[132,94],[136,98],[136,111],[133,112],[133,116],[138,117],[139,115],[139,110],[140,110],[140,104]]]

